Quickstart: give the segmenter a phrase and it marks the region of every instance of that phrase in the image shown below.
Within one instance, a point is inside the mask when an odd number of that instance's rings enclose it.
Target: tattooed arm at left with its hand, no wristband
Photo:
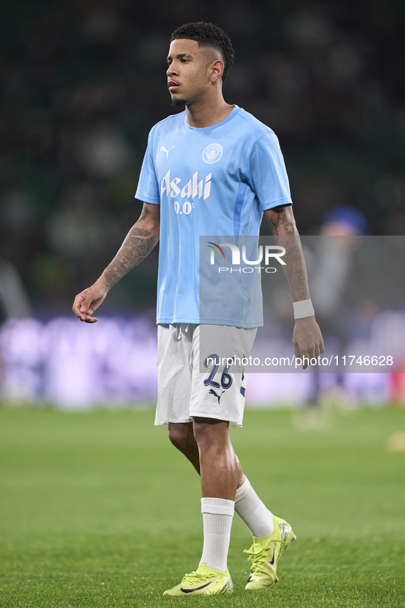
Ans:
[[[105,300],[108,291],[127,272],[138,266],[153,250],[159,240],[160,205],[143,204],[143,210],[138,221],[130,232],[119,252],[103,271],[101,277],[88,289],[84,289],[75,297],[73,313],[80,321],[95,323],[98,319],[93,313]]]

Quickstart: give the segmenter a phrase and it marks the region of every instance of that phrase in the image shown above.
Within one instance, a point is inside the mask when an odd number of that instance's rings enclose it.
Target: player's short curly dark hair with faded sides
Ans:
[[[197,40],[199,47],[212,47],[220,51],[223,59],[222,80],[225,80],[234,62],[234,49],[230,37],[223,29],[206,21],[195,21],[177,27],[171,34],[170,42],[179,38]]]

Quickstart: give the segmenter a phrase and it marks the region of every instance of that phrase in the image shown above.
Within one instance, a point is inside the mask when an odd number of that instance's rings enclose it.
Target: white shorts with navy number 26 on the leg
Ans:
[[[228,420],[231,426],[242,426],[245,406],[246,376],[243,371],[232,373],[226,361],[204,361],[206,372],[200,370],[201,328],[206,337],[233,344],[232,354],[248,357],[257,328],[243,329],[228,326],[200,326],[195,324],[158,326],[158,404],[156,425],[169,422],[190,422],[193,417]],[[206,333],[208,330],[208,333]],[[218,343],[218,342],[217,342]],[[207,352],[218,352],[215,350]],[[224,363],[224,364],[223,364]],[[241,369],[241,368],[239,368]]]

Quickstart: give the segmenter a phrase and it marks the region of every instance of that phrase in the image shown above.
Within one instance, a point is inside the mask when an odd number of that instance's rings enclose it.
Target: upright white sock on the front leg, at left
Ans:
[[[201,498],[204,547],[199,563],[206,563],[219,572],[226,572],[234,504],[225,498]]]

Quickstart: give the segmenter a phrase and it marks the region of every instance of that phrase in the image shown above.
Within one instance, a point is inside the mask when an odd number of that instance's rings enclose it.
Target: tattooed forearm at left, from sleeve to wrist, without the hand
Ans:
[[[108,289],[118,282],[125,274],[138,266],[143,259],[153,250],[159,240],[158,210],[154,219],[147,219],[150,214],[144,204],[142,215],[132,226],[125,237],[119,252],[103,272]]]

